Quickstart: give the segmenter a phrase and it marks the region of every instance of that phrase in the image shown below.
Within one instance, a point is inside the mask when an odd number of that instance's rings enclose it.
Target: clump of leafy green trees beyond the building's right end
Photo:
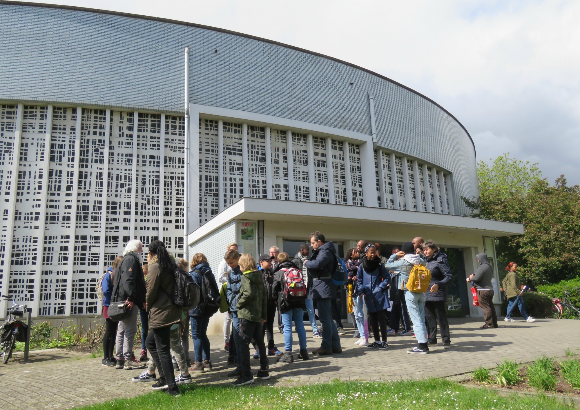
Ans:
[[[490,165],[477,164],[480,196],[463,198],[472,215],[521,222],[524,234],[496,241],[498,259],[514,261],[529,284],[554,283],[580,276],[580,186],[542,179],[538,164],[505,153]]]

